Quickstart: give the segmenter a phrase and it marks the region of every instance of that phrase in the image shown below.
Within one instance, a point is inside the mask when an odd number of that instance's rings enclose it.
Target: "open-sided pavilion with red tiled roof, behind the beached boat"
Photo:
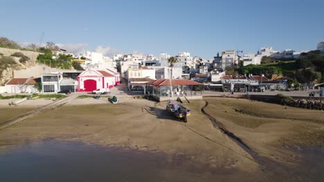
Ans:
[[[172,85],[172,90],[171,86]],[[157,79],[146,83],[146,93],[161,101],[162,97],[196,97],[202,95],[203,84],[187,79]],[[163,99],[165,100],[165,99]]]

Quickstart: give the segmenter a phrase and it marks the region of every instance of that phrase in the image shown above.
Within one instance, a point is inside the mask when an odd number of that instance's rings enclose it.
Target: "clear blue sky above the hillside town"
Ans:
[[[0,0],[0,36],[53,41],[107,54],[222,50],[314,50],[324,41],[324,1]]]

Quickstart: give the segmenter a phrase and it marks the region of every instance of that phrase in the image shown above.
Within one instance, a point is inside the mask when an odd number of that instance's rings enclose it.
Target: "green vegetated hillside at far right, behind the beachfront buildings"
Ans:
[[[263,57],[260,65],[227,68],[227,74],[264,74],[271,80],[286,77],[289,83],[323,83],[324,57],[318,51],[300,55],[300,59],[278,60]]]

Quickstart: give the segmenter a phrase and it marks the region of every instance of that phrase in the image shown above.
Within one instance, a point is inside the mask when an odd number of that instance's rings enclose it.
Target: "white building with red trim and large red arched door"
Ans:
[[[85,70],[78,77],[78,91],[92,92],[100,88],[113,88],[120,83],[120,74],[113,70]]]

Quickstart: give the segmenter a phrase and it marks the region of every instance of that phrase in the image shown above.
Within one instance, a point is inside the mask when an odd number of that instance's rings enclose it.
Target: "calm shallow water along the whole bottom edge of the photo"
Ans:
[[[0,143],[0,181],[323,181],[324,149],[296,150],[300,165],[268,163],[249,174],[209,168],[186,156],[80,142]]]

